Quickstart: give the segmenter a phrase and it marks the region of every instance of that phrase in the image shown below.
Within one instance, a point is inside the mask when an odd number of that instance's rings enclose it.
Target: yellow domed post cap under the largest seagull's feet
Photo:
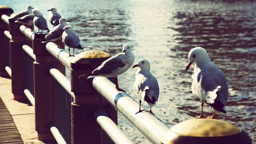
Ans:
[[[238,127],[216,119],[191,119],[168,130],[161,143],[251,143]]]

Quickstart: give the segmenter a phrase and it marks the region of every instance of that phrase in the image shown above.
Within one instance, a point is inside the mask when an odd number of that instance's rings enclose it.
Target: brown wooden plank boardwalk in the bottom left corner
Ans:
[[[0,143],[23,144],[12,117],[0,98]]]

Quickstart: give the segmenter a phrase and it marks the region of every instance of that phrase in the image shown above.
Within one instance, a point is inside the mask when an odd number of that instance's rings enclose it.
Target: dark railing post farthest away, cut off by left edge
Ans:
[[[7,43],[4,35],[4,31],[8,30],[8,25],[1,19],[2,15],[10,16],[13,13],[13,10],[8,6],[0,6],[0,76],[7,76],[7,72],[5,71],[6,67],[6,50]],[[8,43],[9,44],[9,43]]]

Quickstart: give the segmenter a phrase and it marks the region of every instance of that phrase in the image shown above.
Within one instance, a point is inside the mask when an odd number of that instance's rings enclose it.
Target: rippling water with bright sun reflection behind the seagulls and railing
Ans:
[[[160,86],[154,113],[173,126],[199,116],[199,99],[191,93],[191,74],[185,71],[188,51],[204,47],[225,73],[230,91],[228,113],[218,117],[243,129],[256,140],[256,2],[253,1],[0,1],[15,12],[32,5],[72,21],[82,46],[116,54],[123,44],[133,46],[137,62],[151,62]],[[48,23],[50,25],[50,23]],[[50,26],[49,26],[50,27]],[[191,67],[193,68],[193,67]],[[120,87],[134,99],[136,69],[119,76]],[[131,80],[133,79],[133,80]],[[143,104],[144,107],[148,107]],[[211,109],[205,106],[205,114]],[[120,114],[119,114],[120,115]],[[135,142],[148,143],[119,116],[119,127]]]

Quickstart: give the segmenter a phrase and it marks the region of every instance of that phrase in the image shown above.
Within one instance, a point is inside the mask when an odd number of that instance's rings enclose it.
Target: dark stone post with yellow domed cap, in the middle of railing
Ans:
[[[99,109],[99,94],[91,87],[90,79],[78,76],[89,74],[110,56],[108,53],[89,50],[79,53],[71,62],[71,91],[75,94],[71,103],[72,143],[100,143],[101,128],[94,119],[94,111]],[[117,111],[105,100],[102,109],[117,124]]]

